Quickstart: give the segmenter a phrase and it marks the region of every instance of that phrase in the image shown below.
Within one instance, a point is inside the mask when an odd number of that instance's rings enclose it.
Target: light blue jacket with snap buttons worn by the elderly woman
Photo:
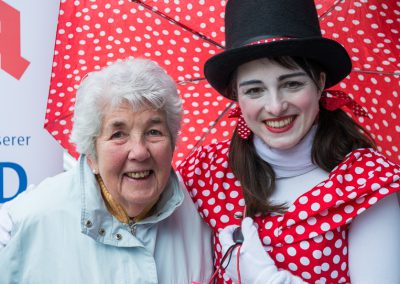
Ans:
[[[0,283],[207,282],[211,232],[175,173],[154,214],[128,226],[110,215],[85,157],[10,204]]]

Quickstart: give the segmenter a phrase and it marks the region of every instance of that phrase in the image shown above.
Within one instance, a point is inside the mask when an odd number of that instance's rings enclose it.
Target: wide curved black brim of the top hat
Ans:
[[[321,65],[326,72],[325,88],[329,88],[351,71],[351,60],[346,49],[327,38],[302,38],[248,45],[221,52],[209,58],[204,65],[204,74],[219,93],[225,94],[231,76],[240,65],[263,57],[296,56],[309,58]]]

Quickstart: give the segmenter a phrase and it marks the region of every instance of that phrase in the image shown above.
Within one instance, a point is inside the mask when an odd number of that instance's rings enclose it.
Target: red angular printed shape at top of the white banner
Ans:
[[[21,56],[19,11],[0,0],[0,69],[19,80],[28,66]]]

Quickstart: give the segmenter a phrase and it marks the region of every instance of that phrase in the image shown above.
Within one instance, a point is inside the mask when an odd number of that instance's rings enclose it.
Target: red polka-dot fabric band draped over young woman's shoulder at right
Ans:
[[[288,209],[283,220],[285,233],[297,235],[296,241],[301,241],[351,223],[376,202],[400,190],[399,173],[399,165],[373,149],[349,153],[328,179]],[[309,234],[294,234],[299,226]]]

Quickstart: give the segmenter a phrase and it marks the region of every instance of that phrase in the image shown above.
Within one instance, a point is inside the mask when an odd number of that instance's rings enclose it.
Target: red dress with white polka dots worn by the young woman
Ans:
[[[178,170],[202,218],[214,230],[239,225],[244,199],[228,167],[229,141],[202,147]],[[329,177],[299,196],[284,214],[256,216],[260,239],[279,268],[311,283],[349,283],[348,225],[383,197],[400,190],[400,167],[372,149],[347,155]],[[232,283],[223,273],[218,283]]]

